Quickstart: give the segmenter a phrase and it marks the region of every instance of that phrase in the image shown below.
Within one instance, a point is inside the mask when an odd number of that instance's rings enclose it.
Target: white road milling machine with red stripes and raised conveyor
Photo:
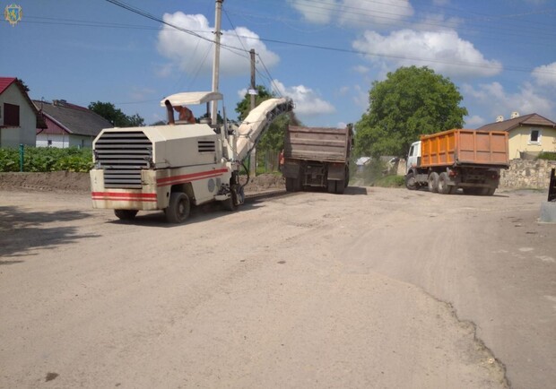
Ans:
[[[215,91],[177,93],[162,99],[168,125],[107,128],[95,138],[91,169],[93,208],[134,219],[139,211],[163,211],[170,223],[187,220],[194,205],[221,202],[234,210],[244,202],[239,170],[275,117],[293,109],[291,99],[267,99],[239,126],[211,123]],[[199,123],[175,120],[174,111],[206,104]],[[188,108],[187,108],[188,109]]]

